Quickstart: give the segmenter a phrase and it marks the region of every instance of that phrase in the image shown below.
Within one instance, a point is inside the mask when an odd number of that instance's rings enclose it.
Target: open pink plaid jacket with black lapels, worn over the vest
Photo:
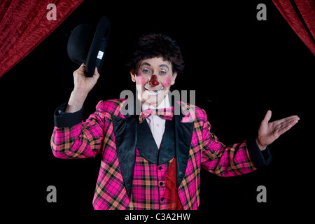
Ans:
[[[94,158],[102,153],[94,209],[127,209],[130,204],[137,116],[123,116],[124,102],[101,101],[85,122],[55,127],[52,133],[52,153],[57,158]],[[201,167],[219,176],[236,176],[269,163],[253,141],[225,146],[210,132],[203,109],[183,102],[179,105],[183,113],[174,120],[177,185],[183,209],[199,207]]]

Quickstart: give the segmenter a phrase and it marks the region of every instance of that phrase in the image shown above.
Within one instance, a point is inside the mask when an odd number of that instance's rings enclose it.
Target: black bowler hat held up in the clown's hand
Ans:
[[[88,77],[93,76],[95,67],[99,72],[102,69],[110,29],[109,20],[103,16],[97,27],[82,24],[71,32],[67,46],[68,55],[76,64],[85,62]]]

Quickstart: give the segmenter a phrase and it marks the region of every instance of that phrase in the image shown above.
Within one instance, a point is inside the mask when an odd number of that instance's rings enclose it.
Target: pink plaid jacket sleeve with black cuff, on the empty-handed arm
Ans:
[[[253,172],[271,162],[269,148],[260,151],[255,139],[225,146],[211,133],[207,114],[203,111],[202,125],[202,167],[218,176],[238,176]]]

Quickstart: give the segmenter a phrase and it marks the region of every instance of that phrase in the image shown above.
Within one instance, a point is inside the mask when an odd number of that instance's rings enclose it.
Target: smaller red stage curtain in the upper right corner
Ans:
[[[315,1],[272,0],[286,22],[315,55]]]

